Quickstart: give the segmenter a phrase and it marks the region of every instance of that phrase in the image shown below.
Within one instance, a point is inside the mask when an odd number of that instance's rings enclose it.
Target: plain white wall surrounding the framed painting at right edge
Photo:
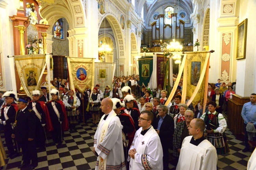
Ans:
[[[249,97],[256,92],[256,1],[240,0],[239,23],[248,18],[246,59],[237,61],[236,93],[242,97]]]

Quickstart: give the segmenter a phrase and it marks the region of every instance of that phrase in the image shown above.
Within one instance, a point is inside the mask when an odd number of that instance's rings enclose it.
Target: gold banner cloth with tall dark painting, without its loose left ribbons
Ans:
[[[204,90],[205,90],[205,76],[207,63],[210,58],[210,52],[193,52],[187,53],[186,55],[186,67],[184,69],[184,78],[186,78],[186,84],[183,83],[183,86],[186,85],[186,91],[182,90],[182,94],[185,92],[186,97],[190,98],[190,103],[195,105],[200,103],[204,99]],[[207,80],[208,81],[208,80]]]

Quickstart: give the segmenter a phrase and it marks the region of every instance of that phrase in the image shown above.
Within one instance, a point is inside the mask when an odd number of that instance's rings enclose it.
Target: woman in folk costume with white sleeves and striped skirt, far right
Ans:
[[[206,125],[206,139],[216,148],[217,154],[225,154],[229,152],[226,135],[224,133],[227,124],[221,113],[216,112],[217,104],[214,101],[209,101],[208,110],[201,119]]]

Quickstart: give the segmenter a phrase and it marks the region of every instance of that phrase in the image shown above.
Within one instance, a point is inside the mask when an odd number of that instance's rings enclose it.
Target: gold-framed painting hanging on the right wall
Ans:
[[[237,25],[236,60],[245,59],[247,18]]]

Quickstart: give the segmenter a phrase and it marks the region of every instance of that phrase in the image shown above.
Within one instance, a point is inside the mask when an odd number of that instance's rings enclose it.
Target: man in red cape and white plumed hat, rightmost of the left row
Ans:
[[[69,122],[67,120],[64,103],[59,100],[59,91],[52,89],[50,91],[52,100],[47,103],[47,108],[52,120],[54,130],[52,131],[53,143],[62,144],[63,131],[69,129]]]

